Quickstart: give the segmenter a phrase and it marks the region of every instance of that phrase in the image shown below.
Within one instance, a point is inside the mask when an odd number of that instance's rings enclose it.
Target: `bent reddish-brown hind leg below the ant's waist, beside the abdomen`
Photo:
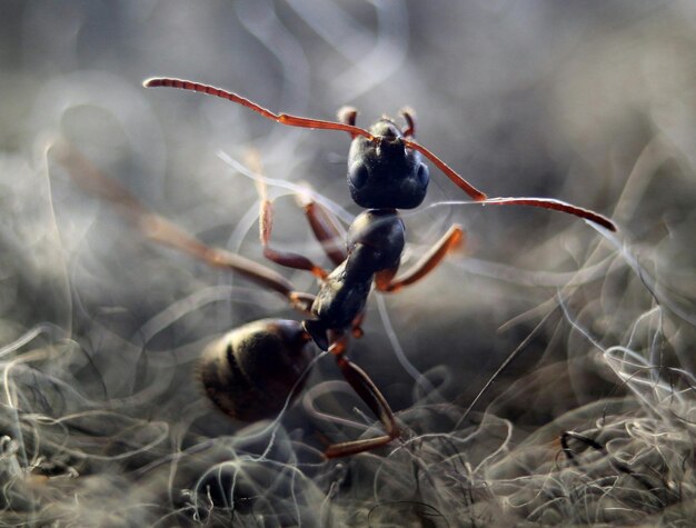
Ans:
[[[357,395],[367,404],[370,410],[379,418],[385,427],[386,435],[365,440],[352,440],[341,444],[334,444],[325,451],[327,458],[347,457],[358,452],[369,451],[378,447],[389,444],[400,435],[399,426],[396,422],[394,412],[389,408],[389,404],[381,395],[375,382],[369,378],[367,372],[355,365],[345,356],[346,339],[340,339],[331,345],[330,352],[336,355],[336,361],[346,381],[354,388]]]

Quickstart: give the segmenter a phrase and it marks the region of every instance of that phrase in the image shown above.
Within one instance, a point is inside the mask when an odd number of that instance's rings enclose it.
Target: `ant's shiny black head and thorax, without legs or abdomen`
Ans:
[[[412,133],[412,116],[408,114],[408,120]],[[391,120],[381,119],[370,133],[379,140],[359,136],[348,156],[350,196],[369,210],[350,226],[348,256],[321,285],[311,306],[316,319],[305,321],[307,331],[325,350],[329,346],[327,331],[349,328],[362,312],[375,275],[398,269],[406,239],[397,209],[418,207],[428,190],[428,167],[418,152],[406,149],[404,135]]]

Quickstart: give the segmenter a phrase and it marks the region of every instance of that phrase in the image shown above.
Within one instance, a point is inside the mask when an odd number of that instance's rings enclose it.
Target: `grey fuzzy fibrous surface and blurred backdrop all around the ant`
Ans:
[[[0,526],[692,526],[695,27],[688,1],[3,2]],[[412,107],[418,141],[491,196],[563,199],[619,231],[468,203],[432,168],[405,258],[454,222],[467,245],[372,295],[350,351],[404,434],[327,461],[380,431],[329,357],[251,425],[195,377],[215,337],[294,317],[284,300],[153,245],[49,146],[262,261],[253,148],[274,243],[320,260],[296,197],[359,212],[349,138],[141,87],[158,74],[319,119],[356,106],[361,126]]]

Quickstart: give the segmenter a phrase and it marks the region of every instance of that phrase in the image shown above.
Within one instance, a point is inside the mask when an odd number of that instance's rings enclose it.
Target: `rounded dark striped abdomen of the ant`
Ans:
[[[270,418],[302,388],[310,341],[299,321],[249,322],[203,350],[199,379],[226,415],[243,421]]]

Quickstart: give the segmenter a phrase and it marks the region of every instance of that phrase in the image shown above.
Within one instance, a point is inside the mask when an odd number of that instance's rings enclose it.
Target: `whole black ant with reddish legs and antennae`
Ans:
[[[348,132],[352,142],[348,155],[348,188],[352,200],[365,208],[348,228],[346,249],[336,241],[336,221],[319,205],[307,201],[305,213],[314,235],[334,263],[332,271],[305,256],[270,247],[272,207],[265,196],[259,215],[260,239],[267,259],[280,266],[310,271],[319,281],[316,296],[296,291],[275,270],[239,255],[212,248],[182,232],[162,217],[149,211],[128,191],[101,176],[84,158],[62,145],[59,161],[78,170],[78,183],[120,206],[127,218],[149,238],[175,247],[205,262],[239,272],[264,288],[284,296],[305,320],[264,319],[243,325],[209,345],[202,353],[198,377],[209,399],[232,418],[255,421],[277,415],[301,390],[311,365],[311,343],[330,352],[347,382],[379,418],[385,435],[329,446],[328,458],[344,457],[385,446],[398,438],[400,429],[386,399],[369,376],[347,357],[349,335],[361,336],[360,323],[372,286],[394,292],[428,275],[454,248],[464,242],[460,226],[453,226],[406,273],[397,277],[405,246],[405,227],[397,209],[418,207],[426,197],[429,170],[422,157],[438,167],[475,201],[484,205],[521,205],[554,209],[589,220],[616,231],[612,220],[588,209],[547,198],[488,198],[417,143],[412,111],[401,110],[406,121],[399,128],[389,118],[377,121],[369,131],[356,126],[357,110],[344,107],[338,121],[324,121],[287,113],[274,113],[226,90],[171,78],[152,78],[147,88],[171,87],[202,92],[241,104],[267,119],[290,127]]]

